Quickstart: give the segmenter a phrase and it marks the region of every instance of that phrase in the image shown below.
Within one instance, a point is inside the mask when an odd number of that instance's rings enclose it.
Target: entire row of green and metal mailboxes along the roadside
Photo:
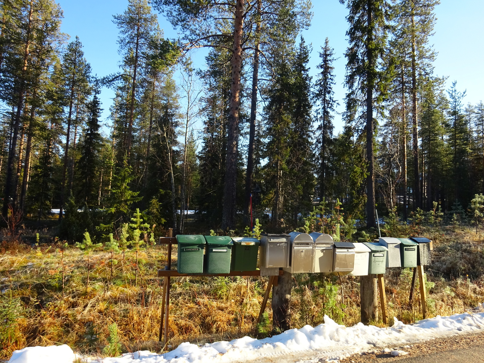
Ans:
[[[261,269],[364,276],[385,273],[387,267],[430,264],[432,250],[432,241],[421,237],[351,243],[333,242],[330,235],[317,232],[264,233],[260,242],[248,237],[202,235],[178,235],[177,241],[178,272],[194,274],[254,271],[259,255]]]

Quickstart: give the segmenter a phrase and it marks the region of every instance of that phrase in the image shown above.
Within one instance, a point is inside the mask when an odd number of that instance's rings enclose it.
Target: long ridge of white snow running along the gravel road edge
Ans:
[[[283,357],[293,353],[297,353],[299,359],[310,358],[311,354],[313,356],[319,354],[319,357],[321,357],[324,353],[328,356],[324,359],[331,362],[331,360],[342,359],[375,346],[384,347],[391,344],[401,347],[407,343],[484,329],[484,313],[464,313],[451,317],[437,316],[436,318],[420,320],[414,325],[406,325],[394,318],[394,324],[390,328],[365,326],[362,323],[345,327],[335,323],[327,316],[325,316],[324,321],[324,324],[315,328],[306,325],[301,329],[291,329],[266,339],[254,339],[245,336],[230,342],[216,342],[201,347],[185,342],[175,350],[163,355],[139,351],[123,354],[119,358],[104,358],[102,361],[96,361],[92,358],[84,360],[91,363],[226,363],[250,360],[263,361],[265,357]],[[397,350],[397,348],[394,348],[392,354],[403,355],[406,353]],[[15,354],[17,352],[14,353],[14,356]],[[38,360],[38,356],[35,359],[33,358],[32,356],[32,360],[14,361],[14,357],[12,357],[10,363],[41,362]],[[49,361],[49,363],[64,362],[67,361],[65,356],[61,354],[59,359]],[[318,362],[318,359],[306,362]]]

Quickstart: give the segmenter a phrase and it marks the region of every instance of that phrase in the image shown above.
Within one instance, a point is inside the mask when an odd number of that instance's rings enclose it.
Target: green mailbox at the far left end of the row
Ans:
[[[203,273],[203,247],[205,239],[202,235],[177,235],[179,273]]]

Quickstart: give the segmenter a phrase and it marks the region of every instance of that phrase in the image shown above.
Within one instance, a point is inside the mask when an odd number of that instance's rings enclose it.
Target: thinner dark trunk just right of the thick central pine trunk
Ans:
[[[259,77],[259,42],[260,42],[260,7],[261,0],[257,0],[257,23],[255,34],[255,49],[254,49],[254,64],[252,70],[252,98],[250,105],[250,126],[249,126],[249,150],[247,154],[247,171],[245,174],[245,216],[246,224],[248,223],[251,208],[250,197],[252,195],[252,180],[254,177],[254,150],[256,140],[256,112],[257,112],[257,91],[258,91],[258,77]]]

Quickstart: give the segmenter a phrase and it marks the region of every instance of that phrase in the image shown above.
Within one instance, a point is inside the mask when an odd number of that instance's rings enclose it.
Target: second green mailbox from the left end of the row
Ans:
[[[232,239],[228,236],[205,236],[205,273],[229,273]]]

